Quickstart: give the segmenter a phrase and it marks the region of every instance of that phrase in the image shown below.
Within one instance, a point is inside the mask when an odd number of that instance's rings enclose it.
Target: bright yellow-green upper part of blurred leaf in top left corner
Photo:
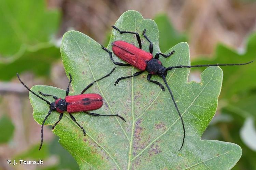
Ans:
[[[23,49],[49,43],[58,29],[60,13],[45,9],[44,0],[0,1],[0,53],[10,57]]]

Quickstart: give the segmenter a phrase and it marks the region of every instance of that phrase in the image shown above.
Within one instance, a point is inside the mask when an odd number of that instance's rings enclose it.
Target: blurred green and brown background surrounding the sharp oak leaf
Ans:
[[[1,0],[0,170],[78,169],[51,127],[45,127],[44,146],[38,151],[41,126],[32,118],[28,92],[17,81],[16,72],[29,87],[66,88],[62,35],[77,30],[106,46],[111,26],[129,9],[156,21],[162,52],[187,41],[193,65],[256,59],[254,0]],[[191,69],[189,81],[200,81],[203,69]],[[222,69],[217,113],[202,139],[238,144],[243,154],[233,169],[256,169],[256,62]],[[6,163],[14,158],[43,159],[44,164]]]

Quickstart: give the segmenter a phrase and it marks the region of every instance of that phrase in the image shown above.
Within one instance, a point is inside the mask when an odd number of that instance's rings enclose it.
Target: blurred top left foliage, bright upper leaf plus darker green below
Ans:
[[[60,12],[46,10],[44,0],[0,1],[0,70],[10,71],[0,80],[11,79],[17,71],[48,74],[47,63],[60,57],[53,44],[59,20]]]

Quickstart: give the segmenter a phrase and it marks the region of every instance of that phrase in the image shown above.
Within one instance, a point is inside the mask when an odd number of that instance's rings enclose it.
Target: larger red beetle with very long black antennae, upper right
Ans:
[[[158,86],[160,86],[160,88],[163,91],[165,91],[165,88],[163,87],[163,85],[161,83],[159,83],[157,81],[154,81],[154,80],[151,80],[152,75],[160,76],[163,79],[163,81],[165,82],[165,85],[167,86],[167,88],[170,92],[170,95],[171,95],[172,101],[174,103],[174,106],[175,106],[175,108],[176,108],[176,110],[179,113],[179,116],[181,118],[184,133],[183,133],[182,145],[181,145],[181,148],[179,150],[182,149],[183,144],[184,144],[185,126],[184,126],[184,122],[183,122],[181,113],[179,111],[179,108],[177,107],[177,104],[174,100],[172,91],[171,91],[170,87],[168,86],[168,84],[166,82],[167,71],[169,71],[171,69],[175,69],[175,68],[192,68],[192,67],[208,67],[208,66],[239,66],[239,65],[245,65],[245,64],[249,64],[249,63],[253,62],[253,61],[251,61],[251,62],[243,63],[243,64],[207,64],[207,65],[196,65],[196,66],[171,66],[171,67],[166,68],[162,65],[162,63],[158,59],[159,55],[162,55],[163,57],[167,58],[167,57],[171,56],[172,54],[174,54],[175,51],[172,51],[171,53],[169,53],[167,55],[158,52],[158,53],[156,53],[155,57],[153,58],[153,44],[148,39],[148,37],[146,36],[146,29],[144,29],[142,34],[146,38],[146,40],[150,43],[150,47],[149,47],[150,52],[147,52],[147,51],[144,51],[144,50],[141,49],[142,46],[141,46],[141,39],[140,39],[139,33],[130,32],[130,31],[120,31],[115,26],[112,26],[112,28],[115,29],[116,31],[118,31],[120,34],[124,34],[124,33],[135,34],[136,38],[137,38],[137,41],[138,41],[138,44],[139,44],[139,48],[130,44],[130,43],[127,43],[127,42],[121,41],[121,40],[114,41],[112,43],[112,50],[113,50],[114,54],[117,57],[121,58],[122,60],[126,61],[129,64],[115,62],[113,60],[113,57],[112,57],[112,52],[110,52],[108,49],[106,49],[105,47],[103,47],[101,45],[102,49],[109,53],[110,59],[112,60],[112,62],[115,65],[118,65],[118,66],[131,66],[132,65],[132,66],[138,68],[139,70],[141,70],[141,71],[138,71],[138,72],[134,73],[133,75],[130,75],[130,76],[127,76],[127,77],[120,77],[119,79],[116,80],[114,85],[118,84],[118,82],[122,79],[135,77],[135,76],[140,75],[144,71],[147,71],[148,72],[147,80],[152,82],[152,83],[157,84]]]

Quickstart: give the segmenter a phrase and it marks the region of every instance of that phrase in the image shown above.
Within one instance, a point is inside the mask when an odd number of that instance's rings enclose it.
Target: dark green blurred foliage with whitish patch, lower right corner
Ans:
[[[225,74],[225,73],[224,73]],[[255,152],[255,120],[256,120],[256,94],[254,91],[248,91],[247,95],[240,95],[239,100],[231,102],[229,105],[222,109],[224,114],[232,116],[233,120],[225,124],[220,124],[220,128],[227,126],[228,133],[223,136],[226,141],[233,141],[238,143],[243,154],[235,166],[235,169],[255,169],[256,167],[256,152]],[[252,123],[247,124],[246,120],[251,119]],[[253,125],[254,121],[254,125]],[[246,125],[247,124],[247,125]],[[246,130],[243,130],[244,126],[247,126]],[[249,127],[248,127],[249,126]],[[253,131],[248,131],[249,129]],[[229,136],[226,138],[226,136]],[[248,143],[248,140],[250,143]],[[252,143],[251,143],[252,142]],[[253,146],[251,145],[253,144]]]

